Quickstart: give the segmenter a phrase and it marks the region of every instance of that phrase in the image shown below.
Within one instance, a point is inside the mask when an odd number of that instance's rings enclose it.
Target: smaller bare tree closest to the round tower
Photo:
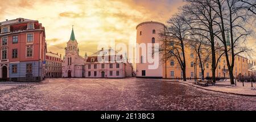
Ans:
[[[183,71],[183,81],[186,81],[185,39],[188,36],[188,25],[184,16],[177,14],[167,22],[166,29],[160,34],[163,45],[159,51],[164,53],[164,61],[175,58]]]

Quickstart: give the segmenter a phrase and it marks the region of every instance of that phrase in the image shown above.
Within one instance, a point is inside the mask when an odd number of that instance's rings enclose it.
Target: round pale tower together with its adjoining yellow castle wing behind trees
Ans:
[[[164,30],[164,24],[159,22],[143,22],[138,24],[137,26],[137,43],[138,44],[155,44],[159,43],[162,45],[162,42],[159,41],[159,33]],[[185,40],[191,41],[191,40]],[[209,45],[205,45],[209,46]],[[142,47],[142,46],[141,46]],[[150,56],[150,53],[142,54],[141,47],[139,50],[139,57],[137,57],[137,70],[136,76],[137,77],[145,77],[145,78],[182,78],[183,71],[180,68],[179,62],[176,58],[172,58],[167,61],[163,61],[164,54],[159,54],[159,68],[156,70],[148,69],[149,64],[145,57]],[[195,53],[195,50],[190,45],[185,45],[185,59],[186,59],[186,77],[187,78],[201,78],[202,71],[200,68],[199,58]],[[220,54],[216,53],[216,57],[220,56]],[[231,59],[229,54],[229,59]],[[143,61],[144,60],[144,61]],[[204,66],[204,77],[212,77],[212,70],[211,70],[211,61],[207,60],[203,64]],[[248,64],[247,58],[237,55],[234,61],[234,76],[237,75],[248,75]],[[229,70],[228,66],[226,65],[226,57],[222,55],[220,60],[217,64],[216,69],[216,77],[229,77]]]

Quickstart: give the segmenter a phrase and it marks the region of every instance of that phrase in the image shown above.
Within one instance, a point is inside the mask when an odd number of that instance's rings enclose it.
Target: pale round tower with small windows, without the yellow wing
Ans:
[[[164,29],[164,24],[159,22],[143,22],[138,24],[137,29],[137,51],[139,51],[136,58],[136,77],[151,77],[151,78],[162,78],[163,77],[163,64],[159,63],[158,68],[149,69],[147,57],[154,57],[152,53],[148,51],[148,47],[152,44],[162,44],[159,40],[159,34]],[[144,51],[143,51],[144,50]],[[159,57],[160,60],[161,57]],[[159,62],[158,60],[158,62]]]

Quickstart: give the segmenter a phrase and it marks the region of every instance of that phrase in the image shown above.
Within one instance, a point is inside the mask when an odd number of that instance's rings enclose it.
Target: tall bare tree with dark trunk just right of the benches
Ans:
[[[211,61],[212,61],[212,80],[215,80],[215,70],[217,69],[218,60],[224,53],[216,56],[216,35],[220,31],[216,30],[217,13],[213,11],[216,6],[211,0],[187,0],[188,5],[183,6],[184,14],[186,15],[185,22],[189,25],[190,31],[203,31],[203,33],[194,33],[204,37],[210,44]],[[205,34],[206,33],[206,34]]]

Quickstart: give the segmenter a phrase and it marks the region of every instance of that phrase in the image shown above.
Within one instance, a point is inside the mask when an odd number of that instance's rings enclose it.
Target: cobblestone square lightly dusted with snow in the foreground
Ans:
[[[164,79],[56,78],[0,82],[0,110],[256,110],[256,97]]]

